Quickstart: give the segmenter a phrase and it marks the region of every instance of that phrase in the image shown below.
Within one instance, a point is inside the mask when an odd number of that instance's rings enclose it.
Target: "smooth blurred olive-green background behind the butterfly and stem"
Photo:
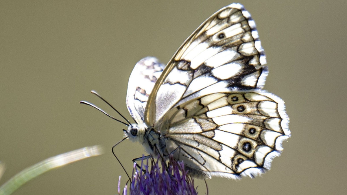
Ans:
[[[0,160],[4,183],[41,160],[100,144],[105,154],[55,169],[15,194],[117,194],[126,175],[111,153],[128,119],[135,63],[166,63],[194,29],[232,1],[0,1]],[[210,194],[345,194],[347,1],[241,1],[257,24],[269,66],[265,90],[280,96],[292,137],[262,177],[208,180]],[[116,153],[131,173],[143,147]],[[195,180],[205,194],[203,180]]]

